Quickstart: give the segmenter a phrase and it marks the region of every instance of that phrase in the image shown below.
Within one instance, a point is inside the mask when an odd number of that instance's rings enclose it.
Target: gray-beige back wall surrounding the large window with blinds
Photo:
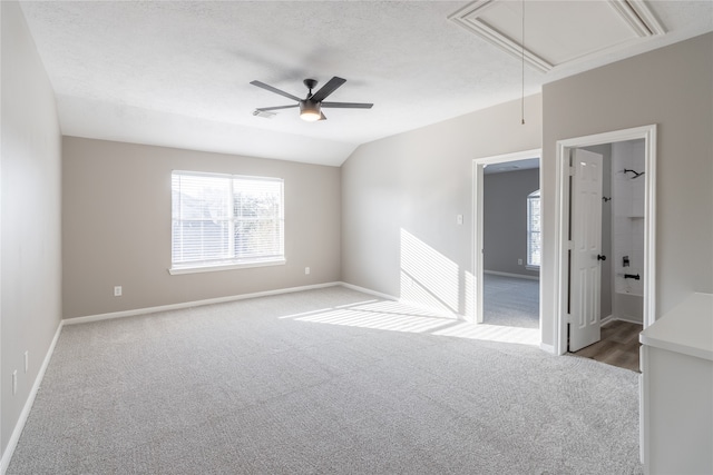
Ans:
[[[174,169],[283,178],[287,264],[169,275]],[[65,137],[62,194],[65,318],[341,278],[335,167]]]

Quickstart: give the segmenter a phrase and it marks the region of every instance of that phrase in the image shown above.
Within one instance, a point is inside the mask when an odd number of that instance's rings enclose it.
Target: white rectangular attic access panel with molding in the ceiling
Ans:
[[[522,1],[477,0],[449,19],[522,55]],[[642,0],[525,1],[525,60],[544,72],[664,32]]]

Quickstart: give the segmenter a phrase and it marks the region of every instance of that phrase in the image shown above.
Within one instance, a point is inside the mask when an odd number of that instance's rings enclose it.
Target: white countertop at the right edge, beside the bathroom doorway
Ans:
[[[713,294],[692,294],[642,331],[638,340],[713,362]]]

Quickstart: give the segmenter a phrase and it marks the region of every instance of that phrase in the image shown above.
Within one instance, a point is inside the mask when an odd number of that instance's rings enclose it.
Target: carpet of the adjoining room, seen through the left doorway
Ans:
[[[539,280],[484,274],[482,294],[484,323],[539,328]]]

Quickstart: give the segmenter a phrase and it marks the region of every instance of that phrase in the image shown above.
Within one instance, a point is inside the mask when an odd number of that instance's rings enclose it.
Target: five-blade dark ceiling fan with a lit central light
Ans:
[[[322,88],[312,93],[312,89],[316,87],[315,79],[305,79],[304,86],[307,87],[310,92],[304,99],[300,99],[296,96],[291,95],[290,92],[285,92],[277,88],[274,88],[270,85],[266,85],[261,81],[252,81],[251,85],[257,86],[258,88],[266,89],[271,92],[279,93],[280,96],[284,96],[289,99],[296,100],[297,103],[292,106],[277,106],[277,107],[261,107],[260,109],[255,109],[255,112],[266,112],[270,110],[277,109],[290,109],[292,107],[300,108],[300,118],[302,120],[306,120],[309,122],[314,122],[316,120],[326,120],[324,113],[322,113],[322,108],[334,108],[334,109],[371,109],[373,103],[365,102],[324,102],[324,99],[332,92],[334,92],[340,86],[346,82],[346,79],[338,78],[336,76],[330,79]]]

